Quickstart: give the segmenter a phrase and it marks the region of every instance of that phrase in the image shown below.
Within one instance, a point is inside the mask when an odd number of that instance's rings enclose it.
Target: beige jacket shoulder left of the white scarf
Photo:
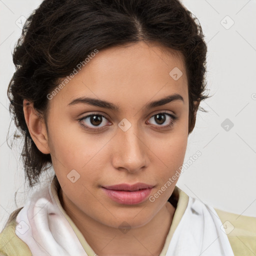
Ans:
[[[6,225],[0,232],[0,256],[32,255],[26,243],[15,234],[16,216],[21,209],[22,207],[10,214]]]

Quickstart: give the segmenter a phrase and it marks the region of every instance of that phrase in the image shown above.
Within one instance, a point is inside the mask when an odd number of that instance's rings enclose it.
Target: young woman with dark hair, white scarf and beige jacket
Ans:
[[[255,254],[255,218],[175,185],[205,60],[178,0],[44,0],[8,92],[29,185],[55,175],[12,212],[1,255]]]

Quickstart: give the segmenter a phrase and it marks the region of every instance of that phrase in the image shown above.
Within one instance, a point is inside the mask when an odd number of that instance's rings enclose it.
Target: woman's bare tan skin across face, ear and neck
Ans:
[[[174,80],[169,72],[183,74]],[[145,105],[178,93],[183,100],[146,109]],[[107,100],[119,111],[84,103],[68,105],[87,96]],[[60,201],[85,239],[98,255],[159,255],[175,208],[167,202],[178,178],[155,199],[135,205],[120,204],[107,197],[100,186],[143,182],[158,191],[182,165],[188,134],[187,77],[181,58],[166,48],[144,42],[100,50],[52,99],[47,129],[33,104],[24,115],[32,139],[43,153],[50,153],[61,186]],[[154,115],[166,111],[178,119],[172,127]],[[88,114],[104,114],[91,128],[77,121]],[[123,131],[118,123],[126,118],[131,126]],[[94,125],[93,125],[94,124]],[[68,173],[80,177],[73,183]],[[125,221],[130,229],[118,228]]]

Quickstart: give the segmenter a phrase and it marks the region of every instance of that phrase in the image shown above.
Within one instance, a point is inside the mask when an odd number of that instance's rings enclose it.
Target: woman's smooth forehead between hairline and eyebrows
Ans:
[[[88,61],[89,60],[89,61]],[[182,94],[187,101],[187,77],[180,54],[152,43],[113,46],[87,58],[54,100],[64,103],[84,95],[133,104],[166,94]]]

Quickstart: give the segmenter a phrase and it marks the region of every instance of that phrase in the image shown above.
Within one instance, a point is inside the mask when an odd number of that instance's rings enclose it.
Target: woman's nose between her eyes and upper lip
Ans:
[[[114,148],[112,164],[116,169],[137,172],[147,166],[147,147],[135,125],[126,131],[118,128],[114,136]]]

